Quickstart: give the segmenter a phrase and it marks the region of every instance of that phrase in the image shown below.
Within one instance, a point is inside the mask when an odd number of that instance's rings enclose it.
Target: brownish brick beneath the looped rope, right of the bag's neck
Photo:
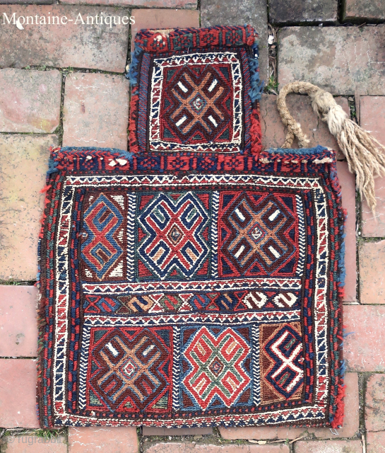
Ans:
[[[336,102],[346,113],[349,114],[349,105],[346,98],[336,98]],[[328,126],[316,116],[312,109],[312,100],[309,96],[300,94],[290,94],[286,98],[288,109],[298,122],[300,122],[302,131],[310,140],[307,145],[316,147],[321,144],[339,151],[337,140],[328,131]],[[285,142],[285,127],[280,119],[277,109],[277,96],[273,94],[263,94],[261,99],[261,128],[262,142],[268,148],[280,148]],[[297,148],[297,140],[293,143],[293,148]],[[343,154],[338,153],[338,159],[343,159]]]

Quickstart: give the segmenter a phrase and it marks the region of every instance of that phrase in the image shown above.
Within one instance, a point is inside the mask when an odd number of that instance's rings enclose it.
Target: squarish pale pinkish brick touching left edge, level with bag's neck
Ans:
[[[0,132],[54,132],[59,126],[61,74],[0,69]]]

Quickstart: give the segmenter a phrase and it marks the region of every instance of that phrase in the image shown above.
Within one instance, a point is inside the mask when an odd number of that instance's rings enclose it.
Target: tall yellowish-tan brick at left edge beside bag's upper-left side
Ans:
[[[35,280],[49,147],[56,135],[0,134],[0,280]]]

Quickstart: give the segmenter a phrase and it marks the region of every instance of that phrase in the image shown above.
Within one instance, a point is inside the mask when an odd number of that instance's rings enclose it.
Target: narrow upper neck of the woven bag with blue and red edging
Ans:
[[[130,151],[258,153],[253,28],[141,30],[129,78]]]

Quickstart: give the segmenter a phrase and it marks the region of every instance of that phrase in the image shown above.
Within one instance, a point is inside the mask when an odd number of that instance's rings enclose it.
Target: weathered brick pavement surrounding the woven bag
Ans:
[[[269,9],[264,0],[53,3],[0,0],[0,427],[8,429],[0,440],[0,451],[358,453],[365,442],[367,453],[385,452],[384,178],[376,181],[378,208],[373,216],[365,202],[361,204],[359,197],[356,200],[354,176],[342,154],[338,154],[338,175],[343,205],[348,210],[344,299],[348,372],[343,428],[336,432],[314,428],[146,428],[142,435],[130,427],[70,428],[61,431],[56,442],[47,442],[40,432],[23,435],[9,431],[17,427],[32,430],[38,425],[36,289],[30,285],[37,272],[40,189],[48,148],[94,144],[127,149],[129,85],[124,69],[137,30],[249,22],[261,35],[261,78],[266,80],[269,20],[279,28],[280,84],[301,79],[328,88],[338,95],[336,101],[347,113],[357,114],[362,127],[379,140],[384,141],[385,134],[383,1],[270,0]],[[2,23],[4,12],[8,16],[13,12],[16,16],[66,16],[73,21],[55,26],[25,24],[20,30],[13,23]],[[111,27],[106,23],[75,25],[79,13],[94,18],[117,16],[120,23]],[[136,17],[131,27],[122,23],[129,16]],[[345,26],[338,26],[341,23]],[[324,24],[328,26],[321,26]],[[309,98],[289,96],[288,106],[311,145],[320,143],[338,151],[326,125],[312,113]],[[274,94],[263,95],[261,115],[264,146],[279,147],[285,131]],[[285,439],[294,442],[269,443]]]

